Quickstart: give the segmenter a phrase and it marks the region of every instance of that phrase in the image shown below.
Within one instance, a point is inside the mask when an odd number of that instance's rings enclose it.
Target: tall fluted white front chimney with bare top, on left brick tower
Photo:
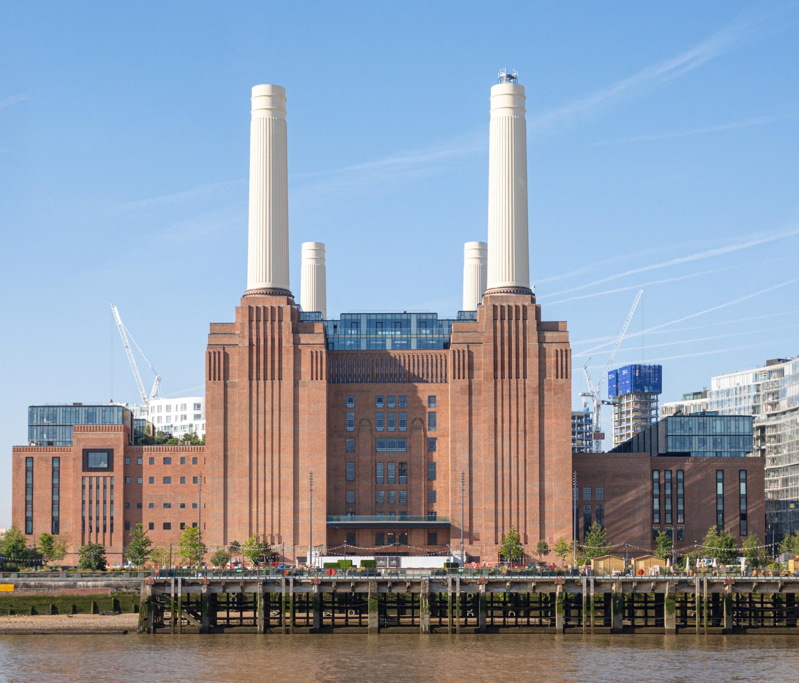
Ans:
[[[252,88],[247,291],[288,294],[286,90]]]

